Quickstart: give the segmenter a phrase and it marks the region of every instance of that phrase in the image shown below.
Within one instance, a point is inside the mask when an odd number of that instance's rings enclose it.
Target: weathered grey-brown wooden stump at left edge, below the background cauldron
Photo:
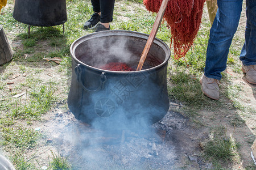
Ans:
[[[13,59],[13,52],[11,52],[3,27],[0,25],[0,65],[9,62],[11,59]]]

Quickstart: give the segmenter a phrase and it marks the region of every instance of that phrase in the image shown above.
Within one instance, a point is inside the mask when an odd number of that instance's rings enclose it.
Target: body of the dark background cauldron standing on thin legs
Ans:
[[[65,0],[15,0],[13,18],[21,23],[51,27],[67,22]]]

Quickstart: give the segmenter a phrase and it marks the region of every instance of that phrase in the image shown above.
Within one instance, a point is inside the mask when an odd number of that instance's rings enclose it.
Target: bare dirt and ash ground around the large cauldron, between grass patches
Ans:
[[[239,34],[243,36],[245,19],[243,10],[238,36]],[[6,32],[6,35],[13,48],[22,48],[19,40],[11,40],[12,33]],[[49,50],[43,42],[42,47]],[[8,66],[14,75],[19,75],[13,79],[15,84],[24,83],[26,77],[34,76],[31,73],[27,73],[26,76],[20,75],[16,66],[16,63]],[[57,71],[59,67],[44,61],[40,65],[43,71],[36,76],[44,80],[52,79],[63,84],[62,87],[69,88],[71,75],[60,73]],[[10,70],[0,66],[0,74],[5,74],[7,71]],[[229,68],[228,73],[232,79],[230,84],[221,86],[242,84],[240,102],[256,109],[256,86],[247,83],[243,74],[234,73]],[[10,80],[5,81],[7,83]],[[9,87],[12,86],[14,85]],[[24,97],[26,96],[21,96],[22,99]],[[229,101],[226,101],[226,104],[228,105]],[[209,137],[210,127],[222,125],[227,129],[226,134],[233,135],[240,143],[239,152],[242,159],[239,163],[225,165],[225,168],[243,169],[253,164],[250,147],[256,135],[255,113],[250,113],[254,116],[244,117],[236,109],[218,109],[220,112],[216,113],[201,108],[199,120],[204,126],[198,128],[191,120],[174,112],[178,107],[183,105],[171,102],[166,116],[142,131],[134,132],[126,129],[117,131],[113,135],[104,130],[92,129],[76,120],[67,108],[67,101],[64,100],[44,114],[41,121],[34,121],[31,125],[20,122],[30,128],[40,128],[40,133],[44,134],[39,145],[34,150],[28,150],[26,155],[27,158],[36,159],[41,167],[48,166],[48,156],[53,151],[67,157],[77,169],[133,169],[134,167],[135,169],[211,169],[213,164],[204,160],[201,155],[201,142]],[[234,117],[245,120],[245,125],[236,128],[230,125],[229,122]]]

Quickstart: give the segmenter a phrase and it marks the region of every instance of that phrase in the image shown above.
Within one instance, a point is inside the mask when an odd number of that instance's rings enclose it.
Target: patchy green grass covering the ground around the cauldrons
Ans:
[[[11,5],[13,1],[8,0],[8,3]],[[56,107],[56,103],[64,103],[65,106],[62,107],[67,109],[67,94],[72,74],[69,47],[79,37],[93,32],[82,30],[82,25],[93,13],[90,1],[67,0],[66,3],[68,21],[65,23],[65,33],[63,33],[62,25],[32,26],[30,36],[28,36],[28,26],[13,19],[12,6],[4,7],[3,15],[0,15],[0,23],[4,23],[3,27],[8,38],[13,41],[13,44],[20,43],[20,46],[14,47],[13,61],[0,66],[1,142],[5,145],[5,150],[8,151],[16,169],[36,169],[36,165],[32,163],[32,160],[27,159],[24,153],[38,146],[38,140],[42,135],[34,131],[32,125],[40,121],[43,114]],[[117,1],[114,20],[110,23],[110,27],[149,34],[156,14],[151,14],[141,8],[142,3],[142,0]],[[199,111],[202,109],[216,112],[212,120],[217,119],[216,115],[220,109],[236,110],[237,114],[232,114],[228,123],[239,128],[245,125],[246,118],[255,116],[255,109],[241,102],[240,94],[245,91],[241,84],[230,83],[232,76],[225,73],[222,74],[224,82],[221,84],[222,100],[210,100],[201,92],[199,80],[205,65],[209,28],[209,21],[203,18],[195,44],[187,53],[185,60],[175,60],[174,55],[171,55],[167,73],[168,95],[170,100],[183,104],[183,107],[176,111],[190,118],[190,122],[198,129],[207,126],[200,119],[202,115]],[[167,45],[171,44],[171,35],[165,22],[162,23],[156,37]],[[233,41],[228,56],[228,67],[235,73],[242,74],[238,56],[243,40],[240,36],[235,36]],[[60,65],[43,61],[43,58],[53,57],[59,57],[63,61]],[[57,73],[51,74],[58,74],[61,79],[59,82],[56,82],[54,76],[46,78],[46,70],[49,68],[57,70]],[[27,74],[23,77],[23,81],[19,82],[18,79],[22,79],[20,75],[19,78],[12,80],[15,82],[13,86],[6,84],[11,76],[23,73]],[[10,88],[12,88],[11,91]],[[26,92],[26,94],[14,99],[13,95],[21,92]],[[27,122],[27,126],[23,127],[24,122]],[[238,155],[237,142],[233,137],[220,134],[221,130],[225,131],[222,127],[210,132],[209,139],[204,143],[205,157],[214,162],[218,160],[232,162],[233,158]],[[52,169],[71,168],[68,160],[59,154],[52,152],[51,159],[49,165]],[[215,165],[218,167],[218,164]]]

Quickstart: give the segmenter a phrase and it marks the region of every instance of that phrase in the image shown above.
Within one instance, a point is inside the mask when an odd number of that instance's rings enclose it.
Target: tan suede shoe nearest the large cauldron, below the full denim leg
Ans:
[[[201,88],[205,95],[210,99],[218,100],[220,98],[220,81],[217,79],[208,78],[203,75],[200,79]]]

